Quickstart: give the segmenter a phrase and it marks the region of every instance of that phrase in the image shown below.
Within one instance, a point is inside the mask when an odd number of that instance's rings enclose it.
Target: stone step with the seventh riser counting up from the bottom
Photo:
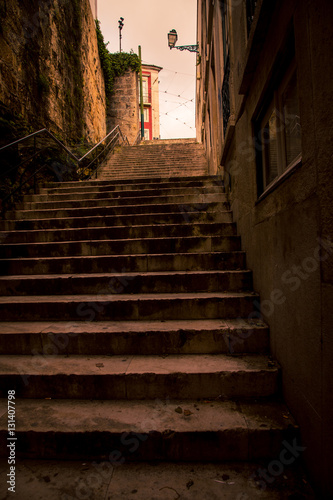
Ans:
[[[12,244],[7,244],[5,241],[0,245],[0,258],[233,252],[235,250],[240,250],[239,236],[189,236]]]

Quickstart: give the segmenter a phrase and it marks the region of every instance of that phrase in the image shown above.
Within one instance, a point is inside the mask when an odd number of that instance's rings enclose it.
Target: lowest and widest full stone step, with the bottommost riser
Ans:
[[[7,400],[2,406],[7,408]],[[111,467],[125,460],[271,460],[279,456],[283,442],[290,443],[290,450],[298,438],[287,408],[274,401],[19,399],[16,412],[19,458],[100,459]],[[6,413],[0,426],[0,453],[7,459]]]

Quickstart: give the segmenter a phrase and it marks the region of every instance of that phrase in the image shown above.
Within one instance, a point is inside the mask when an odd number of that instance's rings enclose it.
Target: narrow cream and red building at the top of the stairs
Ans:
[[[142,65],[142,93],[145,140],[160,138],[159,80],[160,66]],[[141,119],[141,117],[140,117]]]

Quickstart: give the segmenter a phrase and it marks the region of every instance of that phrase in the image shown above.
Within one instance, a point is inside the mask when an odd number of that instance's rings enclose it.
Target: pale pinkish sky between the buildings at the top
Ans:
[[[143,63],[163,67],[159,73],[162,139],[195,137],[196,54],[170,50],[167,34],[176,29],[176,45],[196,44],[196,8],[197,0],[97,2],[97,17],[110,52],[119,51],[118,20],[123,17],[122,50],[133,49],[137,54],[141,45]]]

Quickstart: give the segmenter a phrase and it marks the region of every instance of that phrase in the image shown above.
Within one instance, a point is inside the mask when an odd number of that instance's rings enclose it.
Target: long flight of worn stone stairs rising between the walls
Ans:
[[[124,148],[1,222],[2,455],[8,390],[26,458],[252,461],[296,435],[223,188],[187,147]]]

